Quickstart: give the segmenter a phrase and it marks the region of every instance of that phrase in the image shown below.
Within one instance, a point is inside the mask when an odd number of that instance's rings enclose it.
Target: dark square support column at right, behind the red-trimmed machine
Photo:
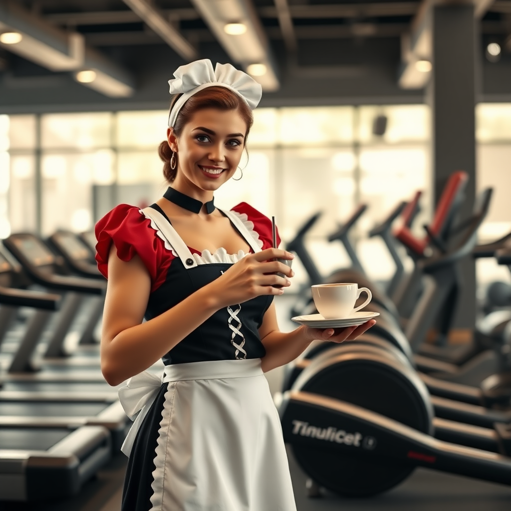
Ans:
[[[476,190],[476,37],[473,5],[433,7],[433,72],[427,91],[432,113],[433,191],[436,202],[449,175],[466,171],[469,183],[461,218],[472,214]],[[474,261],[463,261],[460,268],[463,287],[453,326],[474,328]]]

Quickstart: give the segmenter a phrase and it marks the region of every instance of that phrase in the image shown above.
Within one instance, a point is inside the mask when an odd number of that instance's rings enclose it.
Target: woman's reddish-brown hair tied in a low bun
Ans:
[[[180,94],[176,94],[172,98],[170,103],[171,109],[180,96]],[[181,110],[179,110],[176,122],[174,123],[174,133],[176,136],[181,135],[183,127],[190,121],[192,115],[196,111],[203,110],[205,108],[217,108],[218,110],[223,111],[238,110],[247,125],[247,131],[243,141],[243,144],[246,146],[248,132],[250,131],[253,123],[252,111],[245,101],[236,94],[236,92],[233,92],[227,87],[217,85],[199,90],[197,94],[194,94],[184,103]],[[176,178],[177,173],[177,166],[175,169],[172,169],[170,166],[170,160],[173,154],[174,151],[172,151],[169,147],[169,143],[166,140],[161,142],[158,147],[158,155],[161,161],[164,162],[163,175],[168,182],[172,182]],[[175,161],[177,162],[177,158],[175,158]]]

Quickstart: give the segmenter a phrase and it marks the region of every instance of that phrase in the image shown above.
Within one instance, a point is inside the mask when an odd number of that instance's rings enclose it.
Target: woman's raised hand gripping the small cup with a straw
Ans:
[[[291,285],[286,277],[292,277],[294,271],[289,266],[274,259],[294,259],[290,252],[279,248],[267,248],[261,252],[245,255],[233,264],[208,287],[215,293],[221,308],[242,304],[260,295],[279,295]],[[284,273],[286,277],[275,275]],[[274,285],[280,287],[273,287]]]

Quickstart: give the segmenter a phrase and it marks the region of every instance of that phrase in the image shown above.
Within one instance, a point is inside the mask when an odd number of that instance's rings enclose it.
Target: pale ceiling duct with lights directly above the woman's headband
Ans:
[[[207,26],[234,61],[240,63],[266,91],[279,82],[271,49],[261,21],[250,0],[191,0]],[[227,33],[226,26],[240,26],[239,33]]]

